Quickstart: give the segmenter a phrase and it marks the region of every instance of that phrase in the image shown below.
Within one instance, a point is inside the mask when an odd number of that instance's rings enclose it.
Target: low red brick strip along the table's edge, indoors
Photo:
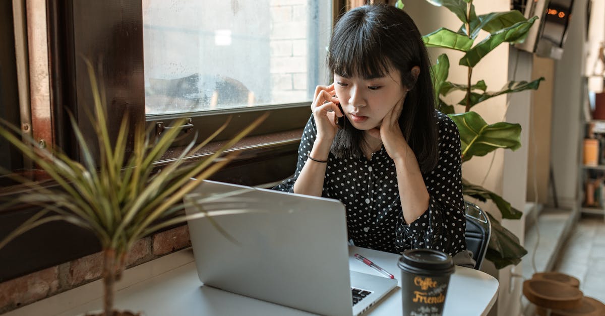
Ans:
[[[126,268],[189,246],[187,225],[145,237],[132,246]],[[102,253],[97,252],[0,283],[0,314],[97,280],[102,263]]]

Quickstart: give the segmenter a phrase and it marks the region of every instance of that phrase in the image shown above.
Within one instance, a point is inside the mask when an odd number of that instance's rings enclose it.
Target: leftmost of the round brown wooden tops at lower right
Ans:
[[[523,295],[537,306],[547,309],[577,308],[584,296],[582,291],[571,285],[549,280],[526,280]]]

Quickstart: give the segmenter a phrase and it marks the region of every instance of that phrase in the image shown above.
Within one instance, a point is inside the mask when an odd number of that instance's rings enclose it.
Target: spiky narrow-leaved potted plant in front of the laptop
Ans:
[[[33,139],[19,137],[18,128],[11,127],[7,122],[0,123],[0,136],[18,148],[56,183],[44,186],[16,174],[8,174],[22,182],[27,187],[27,193],[10,196],[8,202],[1,206],[8,208],[26,203],[39,206],[41,211],[0,239],[0,248],[29,229],[56,220],[88,229],[96,235],[103,249],[103,311],[104,315],[113,315],[114,283],[122,275],[126,255],[134,242],[188,219],[206,217],[209,211],[212,211],[212,216],[252,211],[222,208],[216,202],[205,207],[203,199],[186,199],[187,203],[195,203],[195,209],[199,211],[185,215],[183,197],[200,183],[192,178],[206,179],[232,160],[235,154],[221,157],[223,151],[257,127],[267,114],[201,162],[191,163],[187,160],[217,136],[227,123],[197,146],[193,140],[177,159],[159,167],[155,162],[166,153],[180,131],[172,128],[159,139],[152,140],[147,136],[149,133],[138,128],[134,133],[132,153],[126,156],[128,118],[122,120],[117,138],[112,141],[106,125],[104,94],[98,88],[91,63],[86,62],[94,97],[94,119],[91,119],[91,123],[98,139],[99,159],[93,158],[91,148],[73,117],[71,123],[82,162],[71,159],[58,148],[39,148]],[[189,202],[193,200],[196,202]]]

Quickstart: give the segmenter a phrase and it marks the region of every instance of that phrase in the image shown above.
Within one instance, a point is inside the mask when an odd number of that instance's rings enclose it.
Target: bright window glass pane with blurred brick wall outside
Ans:
[[[309,102],[331,18],[329,0],[143,0],[146,114]]]

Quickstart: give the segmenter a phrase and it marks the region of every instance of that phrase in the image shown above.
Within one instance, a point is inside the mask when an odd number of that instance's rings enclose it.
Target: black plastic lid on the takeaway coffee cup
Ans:
[[[409,249],[401,254],[399,268],[417,274],[451,274],[454,272],[454,260],[442,251]]]

